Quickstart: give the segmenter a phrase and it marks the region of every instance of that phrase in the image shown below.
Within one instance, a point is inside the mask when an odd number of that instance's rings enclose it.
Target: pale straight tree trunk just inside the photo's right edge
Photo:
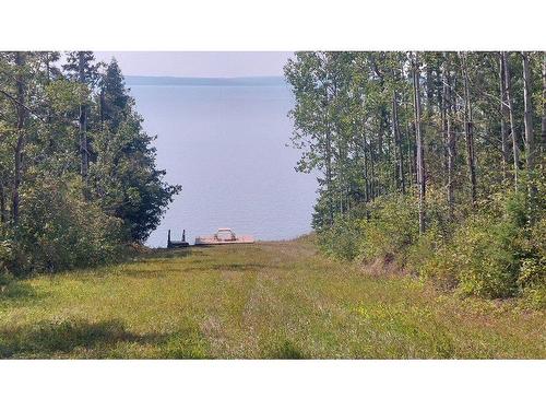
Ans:
[[[521,54],[523,61],[523,103],[524,103],[524,122],[525,122],[525,162],[529,178],[529,220],[532,223],[534,216],[534,203],[536,196],[535,179],[535,136],[533,130],[533,102],[531,101],[531,70],[529,68],[529,52]]]

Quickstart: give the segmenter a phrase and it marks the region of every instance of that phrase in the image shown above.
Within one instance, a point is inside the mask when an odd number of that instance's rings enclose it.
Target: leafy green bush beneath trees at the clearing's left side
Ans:
[[[83,199],[79,178],[43,181],[23,192],[11,270],[56,271],[110,260],[119,251],[121,221]]]

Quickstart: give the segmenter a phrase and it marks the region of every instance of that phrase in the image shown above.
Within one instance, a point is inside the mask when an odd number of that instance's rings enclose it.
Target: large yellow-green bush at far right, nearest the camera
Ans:
[[[420,274],[442,288],[458,286],[463,294],[485,297],[515,296],[525,288],[544,286],[544,220],[529,232],[526,207],[521,194],[498,196],[426,259]]]

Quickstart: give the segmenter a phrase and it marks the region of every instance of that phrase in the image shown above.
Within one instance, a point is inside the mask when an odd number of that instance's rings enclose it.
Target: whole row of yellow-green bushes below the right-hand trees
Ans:
[[[523,192],[492,196],[459,224],[428,209],[428,229],[418,234],[417,207],[411,197],[388,196],[368,204],[367,218],[339,216],[321,230],[322,249],[365,262],[396,258],[399,263],[441,289],[464,295],[509,297],[526,294],[543,305],[546,290],[546,218],[529,227]]]

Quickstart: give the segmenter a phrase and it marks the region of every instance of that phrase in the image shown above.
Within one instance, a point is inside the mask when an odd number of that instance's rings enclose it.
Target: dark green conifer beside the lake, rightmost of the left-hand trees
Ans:
[[[142,243],[181,188],[167,184],[165,172],[156,168],[154,137],[143,131],[116,60],[106,69],[99,101],[103,130],[95,134],[92,194],[108,214],[123,221],[128,241]]]

